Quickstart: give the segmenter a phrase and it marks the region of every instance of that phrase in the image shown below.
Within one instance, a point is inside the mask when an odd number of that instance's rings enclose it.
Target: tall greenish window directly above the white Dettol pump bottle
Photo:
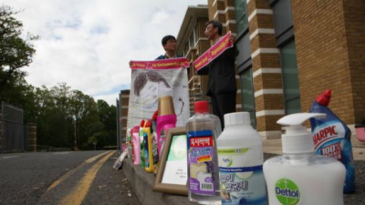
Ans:
[[[294,39],[280,48],[286,115],[301,112]]]

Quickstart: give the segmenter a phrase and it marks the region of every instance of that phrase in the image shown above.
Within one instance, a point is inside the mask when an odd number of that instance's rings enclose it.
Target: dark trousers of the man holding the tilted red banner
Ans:
[[[224,129],[224,115],[235,112],[236,93],[221,93],[212,95],[213,114],[221,119],[222,130]]]

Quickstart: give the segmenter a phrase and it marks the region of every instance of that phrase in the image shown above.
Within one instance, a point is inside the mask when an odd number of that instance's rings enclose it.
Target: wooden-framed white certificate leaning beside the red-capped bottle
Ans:
[[[162,149],[154,191],[188,195],[187,137],[185,128],[169,128]]]

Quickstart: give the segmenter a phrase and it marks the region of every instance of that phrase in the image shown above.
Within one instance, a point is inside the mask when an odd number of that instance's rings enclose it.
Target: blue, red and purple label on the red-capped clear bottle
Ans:
[[[189,190],[195,194],[214,195],[214,139],[212,130],[188,132]]]

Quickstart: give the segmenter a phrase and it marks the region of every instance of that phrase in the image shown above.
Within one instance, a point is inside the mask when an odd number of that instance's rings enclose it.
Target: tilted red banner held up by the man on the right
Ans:
[[[226,49],[234,46],[232,42],[229,40],[230,36],[231,32],[228,32],[216,44],[214,44],[214,46],[205,51],[202,56],[199,56],[198,59],[196,59],[193,62],[195,70],[198,71],[202,67],[205,67],[210,62],[212,62],[217,56],[221,55]]]

